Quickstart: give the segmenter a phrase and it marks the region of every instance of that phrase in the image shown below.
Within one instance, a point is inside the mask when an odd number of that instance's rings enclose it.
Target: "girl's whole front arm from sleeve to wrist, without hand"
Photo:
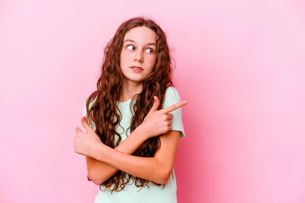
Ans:
[[[154,157],[139,157],[116,151],[103,143],[92,157],[135,177],[164,184],[168,181],[176,156],[180,131],[170,130],[160,136],[161,146]]]

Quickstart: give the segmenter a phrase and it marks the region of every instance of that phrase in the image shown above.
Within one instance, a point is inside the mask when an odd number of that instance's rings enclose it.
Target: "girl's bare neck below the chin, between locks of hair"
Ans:
[[[138,94],[142,91],[143,83],[135,83],[132,81],[123,82],[121,85],[121,92],[120,92],[120,102],[127,101],[129,99],[132,99],[135,94]]]

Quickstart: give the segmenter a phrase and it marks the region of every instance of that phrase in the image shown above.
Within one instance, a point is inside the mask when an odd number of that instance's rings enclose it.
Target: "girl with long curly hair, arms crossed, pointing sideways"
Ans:
[[[86,156],[95,202],[177,202],[173,169],[185,137],[164,31],[151,19],[119,26],[104,52],[97,91],[84,104],[75,152]],[[88,123],[90,123],[88,125]]]

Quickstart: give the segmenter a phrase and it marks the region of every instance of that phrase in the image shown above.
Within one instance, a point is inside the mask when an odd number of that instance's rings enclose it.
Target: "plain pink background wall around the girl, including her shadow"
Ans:
[[[138,15],[167,32],[189,101],[178,202],[305,202],[303,1],[89,2],[0,2],[0,202],[93,202],[75,127],[104,46]]]

